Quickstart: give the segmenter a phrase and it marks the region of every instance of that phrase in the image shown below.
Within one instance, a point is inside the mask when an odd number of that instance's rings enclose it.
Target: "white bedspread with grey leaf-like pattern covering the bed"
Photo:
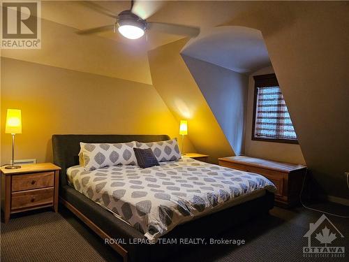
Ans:
[[[262,175],[216,166],[190,158],[161,166],[108,166],[85,171],[68,168],[70,185],[111,210],[149,240],[174,226],[220,210],[253,191],[276,191]]]

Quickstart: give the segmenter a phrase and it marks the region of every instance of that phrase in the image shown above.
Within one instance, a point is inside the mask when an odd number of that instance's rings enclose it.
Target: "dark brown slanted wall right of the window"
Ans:
[[[260,29],[318,194],[349,198],[348,1],[244,2]]]

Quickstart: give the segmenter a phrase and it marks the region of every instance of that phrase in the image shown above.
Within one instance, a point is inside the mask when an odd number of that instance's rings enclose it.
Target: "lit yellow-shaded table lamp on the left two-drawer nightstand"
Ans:
[[[6,126],[5,133],[10,133],[12,135],[12,164],[6,166],[6,169],[20,168],[20,166],[15,166],[15,134],[22,133],[22,117],[20,109],[8,109],[6,115]]]

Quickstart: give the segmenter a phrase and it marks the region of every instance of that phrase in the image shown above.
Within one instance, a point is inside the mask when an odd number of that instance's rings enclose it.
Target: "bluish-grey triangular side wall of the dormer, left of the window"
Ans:
[[[248,76],[182,54],[235,154],[244,152]]]

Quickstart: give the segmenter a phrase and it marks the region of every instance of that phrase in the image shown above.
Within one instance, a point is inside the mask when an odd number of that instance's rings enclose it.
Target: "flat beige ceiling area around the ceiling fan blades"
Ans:
[[[110,10],[115,15],[129,9],[131,1],[91,1]],[[202,30],[217,27],[230,22],[232,17],[244,13],[249,4],[241,1],[161,1],[163,3],[154,15],[147,19],[150,22],[166,22],[200,27]],[[261,3],[253,3],[260,6]],[[112,17],[88,8],[82,1],[42,1],[42,17],[45,20],[64,24],[75,29],[89,29],[114,24]],[[130,44],[131,41],[112,31],[96,34],[113,41]],[[80,36],[83,37],[83,36]],[[147,50],[154,49],[177,41],[183,36],[148,31],[148,36],[141,38],[140,43]],[[133,43],[135,43],[133,41]]]

